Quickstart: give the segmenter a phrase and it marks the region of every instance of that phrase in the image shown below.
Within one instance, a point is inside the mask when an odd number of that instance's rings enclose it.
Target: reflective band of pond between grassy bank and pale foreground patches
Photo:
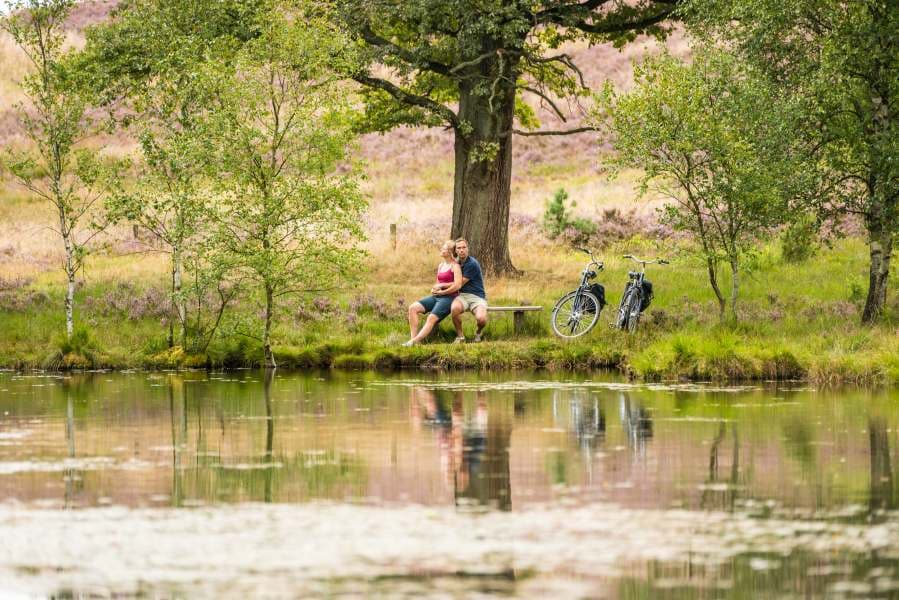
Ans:
[[[899,502],[892,392],[470,377],[0,374],[0,498],[871,513]]]

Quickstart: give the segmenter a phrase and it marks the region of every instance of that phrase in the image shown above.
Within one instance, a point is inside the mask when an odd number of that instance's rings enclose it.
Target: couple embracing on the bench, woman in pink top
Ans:
[[[468,242],[461,238],[455,242],[444,242],[440,248],[440,257],[443,260],[437,266],[437,283],[431,288],[431,295],[409,306],[410,339],[404,346],[421,342],[449,314],[452,314],[453,326],[456,328],[455,343],[464,342],[462,313],[465,311],[474,314],[478,323],[474,341],[481,341],[481,333],[487,325],[487,293],[484,291],[481,265],[473,256],[469,256]],[[425,313],[430,314],[419,331],[418,322]]]

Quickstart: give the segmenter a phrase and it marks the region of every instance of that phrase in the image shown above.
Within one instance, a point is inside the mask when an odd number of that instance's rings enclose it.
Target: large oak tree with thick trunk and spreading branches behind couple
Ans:
[[[679,0],[337,0],[341,20],[368,50],[353,73],[366,86],[368,126],[442,125],[455,135],[452,237],[484,268],[514,272],[509,255],[512,135],[541,131],[523,95],[577,96],[583,77],[566,42],[663,36]],[[386,71],[386,72],[385,72]]]

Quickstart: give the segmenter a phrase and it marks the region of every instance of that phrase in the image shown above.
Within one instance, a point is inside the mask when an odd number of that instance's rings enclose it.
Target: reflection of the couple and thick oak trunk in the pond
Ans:
[[[444,481],[457,506],[512,510],[509,446],[514,410],[514,401],[491,406],[483,391],[477,392],[473,407],[466,407],[461,391],[411,388],[413,427],[426,423],[435,429]]]

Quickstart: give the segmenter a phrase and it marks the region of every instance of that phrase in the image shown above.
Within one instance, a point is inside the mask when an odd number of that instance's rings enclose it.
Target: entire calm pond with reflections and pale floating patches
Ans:
[[[899,392],[0,373],[2,597],[899,597]]]

